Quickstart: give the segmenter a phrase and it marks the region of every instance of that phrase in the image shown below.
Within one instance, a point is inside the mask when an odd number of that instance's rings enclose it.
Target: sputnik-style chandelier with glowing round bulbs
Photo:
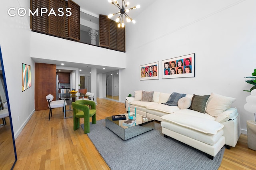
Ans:
[[[117,0],[108,0],[108,2],[114,4],[117,8],[120,9],[120,11],[118,11],[116,14],[120,14],[118,16],[118,18],[116,18],[116,22],[118,22],[118,28],[120,28],[120,26],[122,26],[122,28],[124,28],[124,17],[126,18],[127,22],[133,22],[135,24],[135,20],[133,20],[132,18],[130,18],[126,13],[129,12],[129,10],[135,10],[136,8],[140,8],[140,5],[136,5],[132,8],[129,9],[125,9],[130,3],[127,2],[125,3],[126,0],[122,0],[122,6],[120,6],[117,2]],[[109,14],[108,18],[111,18],[112,16],[116,15],[116,14]],[[122,21],[122,22],[121,22]]]

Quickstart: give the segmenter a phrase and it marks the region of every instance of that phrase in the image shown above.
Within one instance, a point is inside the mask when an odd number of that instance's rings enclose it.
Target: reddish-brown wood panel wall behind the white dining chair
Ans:
[[[35,63],[35,109],[48,109],[46,96],[52,94],[56,100],[56,65]]]

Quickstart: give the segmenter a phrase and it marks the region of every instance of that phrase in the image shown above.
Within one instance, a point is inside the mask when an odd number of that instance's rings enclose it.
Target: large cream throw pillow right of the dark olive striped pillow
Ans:
[[[212,93],[206,105],[206,113],[213,117],[218,117],[218,115],[220,115],[222,112],[229,109],[235,100],[236,99],[232,97]]]

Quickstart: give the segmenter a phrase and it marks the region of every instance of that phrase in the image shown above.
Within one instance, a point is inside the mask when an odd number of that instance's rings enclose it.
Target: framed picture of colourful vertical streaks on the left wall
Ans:
[[[31,87],[31,65],[22,63],[22,91]]]

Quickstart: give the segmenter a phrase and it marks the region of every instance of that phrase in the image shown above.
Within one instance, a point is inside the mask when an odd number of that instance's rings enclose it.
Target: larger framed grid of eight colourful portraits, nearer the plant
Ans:
[[[162,60],[162,79],[195,77],[195,54]]]

